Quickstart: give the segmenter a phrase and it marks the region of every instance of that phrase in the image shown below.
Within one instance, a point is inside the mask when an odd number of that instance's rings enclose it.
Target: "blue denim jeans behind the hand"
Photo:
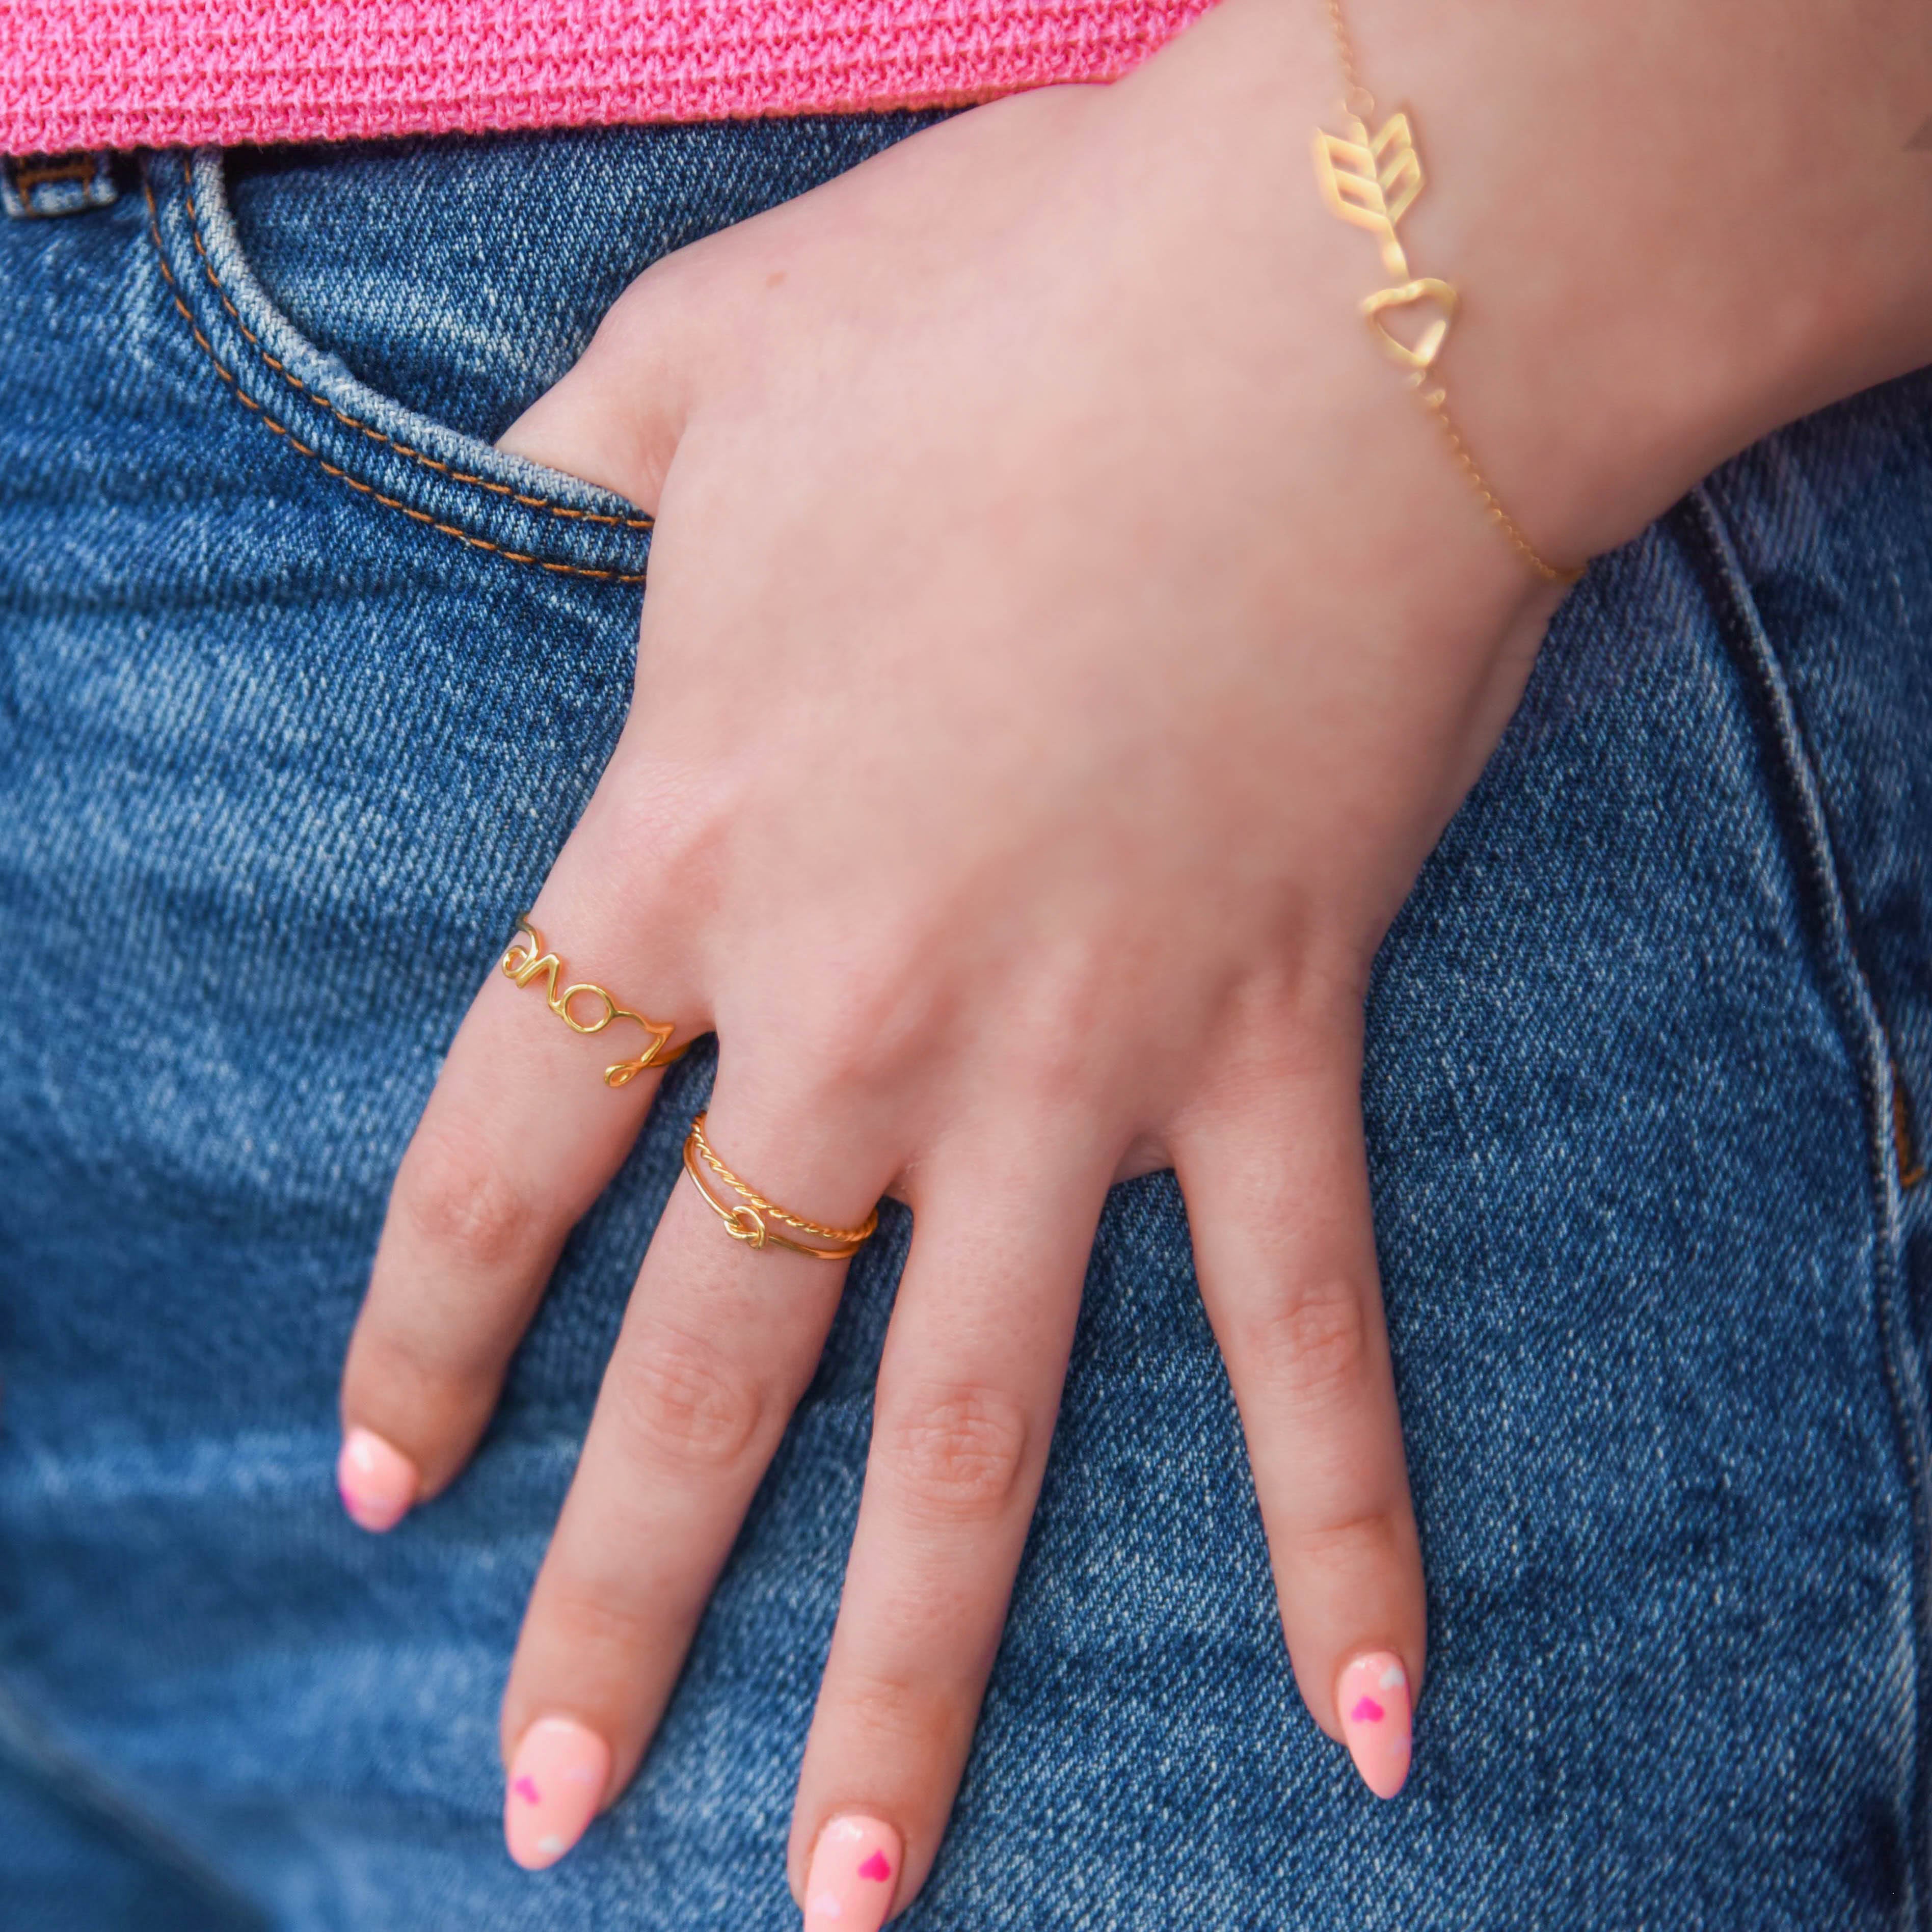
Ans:
[[[497,1700],[709,1057],[384,1540],[336,1507],[334,1389],[439,1057],[628,703],[649,537],[487,439],[647,259],[910,126],[166,155],[0,222],[10,1932],[796,1924],[904,1215],[636,1785],[543,1876],[498,1843]],[[1922,375],[1592,568],[1378,962],[1406,1793],[1294,1696],[1151,1177],[908,1928],[1932,1924],[1928,750]]]

